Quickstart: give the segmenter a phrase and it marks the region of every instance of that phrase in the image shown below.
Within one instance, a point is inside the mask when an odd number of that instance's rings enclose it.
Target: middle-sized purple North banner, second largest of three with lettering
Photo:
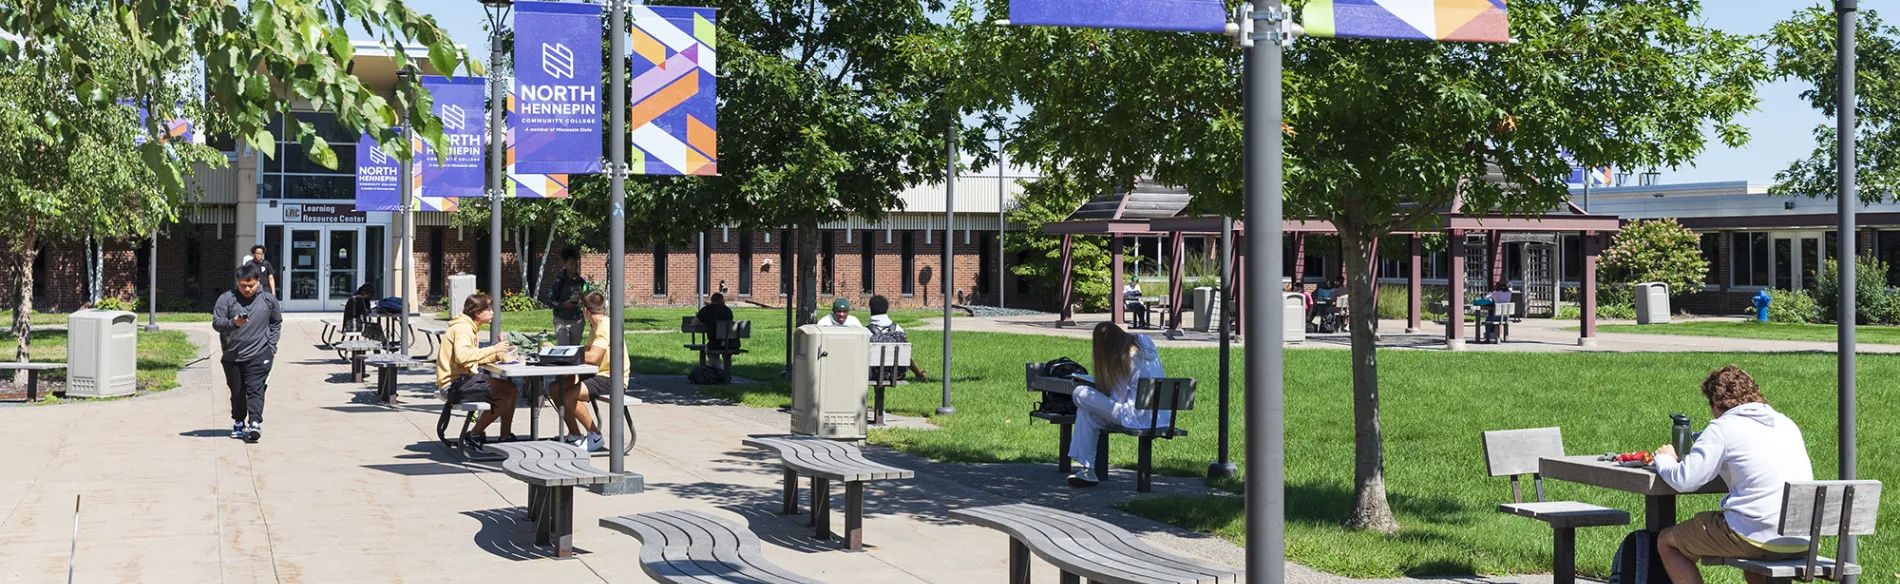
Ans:
[[[422,194],[431,198],[481,198],[486,196],[486,95],[483,78],[443,78],[422,76],[422,88],[435,99],[435,116],[443,120],[443,139],[448,152],[437,152],[428,143],[422,145]]]

